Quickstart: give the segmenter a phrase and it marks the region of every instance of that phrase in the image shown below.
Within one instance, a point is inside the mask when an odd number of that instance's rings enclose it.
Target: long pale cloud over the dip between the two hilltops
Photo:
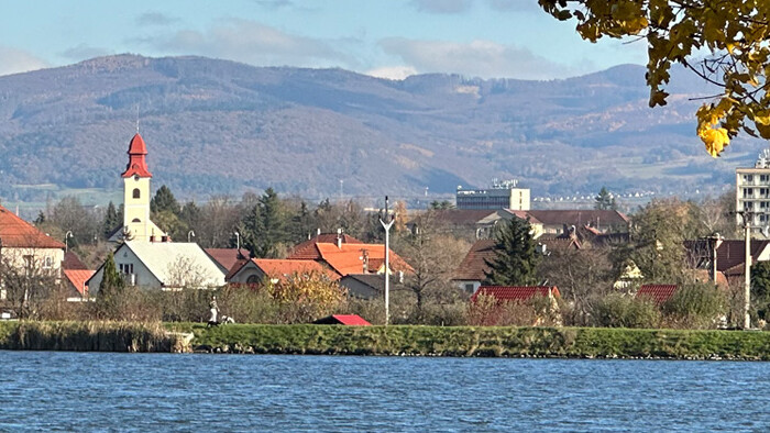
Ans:
[[[457,43],[392,37],[380,41],[380,46],[419,73],[520,79],[564,78],[579,73],[528,48],[491,41]]]

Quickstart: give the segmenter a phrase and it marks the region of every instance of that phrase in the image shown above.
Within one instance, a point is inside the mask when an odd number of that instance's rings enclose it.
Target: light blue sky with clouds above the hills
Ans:
[[[3,1],[0,75],[134,53],[403,78],[565,78],[646,63],[644,42],[591,44],[537,0]]]

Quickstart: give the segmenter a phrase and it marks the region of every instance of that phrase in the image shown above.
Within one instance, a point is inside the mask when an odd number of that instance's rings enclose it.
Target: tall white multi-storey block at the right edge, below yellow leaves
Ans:
[[[754,167],[735,170],[736,223],[744,225],[749,218],[752,231],[760,232],[770,225],[770,149],[759,154]]]

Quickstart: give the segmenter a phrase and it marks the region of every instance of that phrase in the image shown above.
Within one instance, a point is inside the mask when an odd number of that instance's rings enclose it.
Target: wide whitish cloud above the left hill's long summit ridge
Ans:
[[[144,43],[178,54],[197,54],[228,58],[257,66],[346,66],[355,58],[337,49],[330,42],[289,34],[250,20],[227,20],[207,32],[183,30],[167,37],[152,37]]]

